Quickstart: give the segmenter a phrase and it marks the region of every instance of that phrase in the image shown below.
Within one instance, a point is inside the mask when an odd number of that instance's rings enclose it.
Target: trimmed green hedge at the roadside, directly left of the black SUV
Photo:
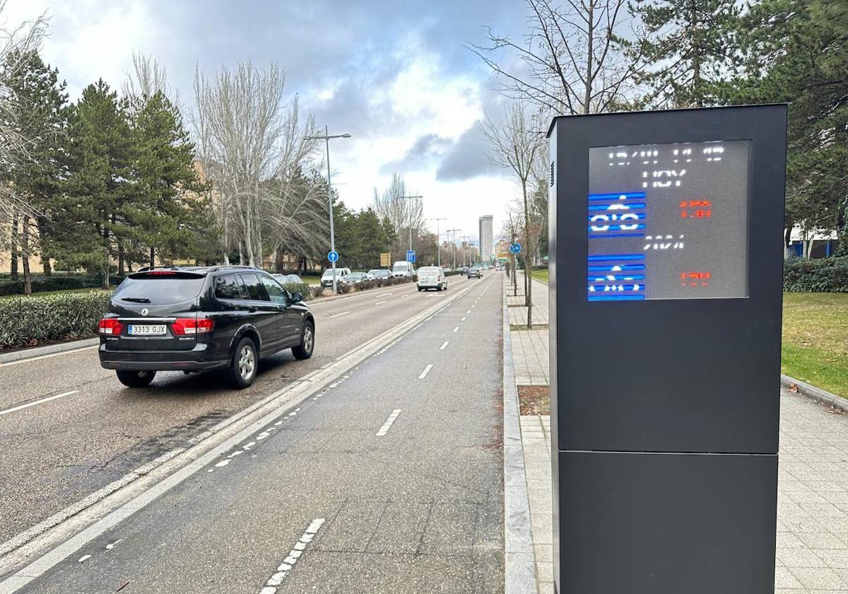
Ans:
[[[111,291],[0,300],[0,349],[98,333]]]

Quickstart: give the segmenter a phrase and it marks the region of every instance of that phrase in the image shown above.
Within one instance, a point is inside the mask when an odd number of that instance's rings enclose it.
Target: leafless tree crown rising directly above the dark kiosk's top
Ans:
[[[625,103],[644,55],[621,43],[631,20],[628,0],[526,0],[530,30],[516,41],[488,31],[488,44],[467,44],[503,80],[506,95],[530,101],[548,115],[610,111]],[[633,36],[639,33],[633,31]],[[494,57],[515,54],[523,69]]]

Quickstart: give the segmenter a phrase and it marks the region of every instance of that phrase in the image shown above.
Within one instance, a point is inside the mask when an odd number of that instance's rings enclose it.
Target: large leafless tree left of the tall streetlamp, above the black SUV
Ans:
[[[195,75],[198,152],[213,183],[227,263],[238,249],[240,260],[261,266],[265,253],[293,233],[321,241],[321,228],[306,213],[321,212],[326,194],[304,192],[298,178],[315,152],[315,141],[304,139],[314,121],[301,119],[297,98],[286,109],[285,86],[285,72],[275,64],[259,70],[243,63],[211,79],[198,68]]]

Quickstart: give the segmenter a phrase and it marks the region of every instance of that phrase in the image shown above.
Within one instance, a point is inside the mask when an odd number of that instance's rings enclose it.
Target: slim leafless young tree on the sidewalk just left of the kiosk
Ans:
[[[492,120],[486,115],[480,125],[480,131],[488,142],[486,156],[492,165],[510,169],[522,189],[522,207],[524,216],[524,238],[527,243],[524,250],[524,276],[527,291],[527,328],[532,327],[533,320],[533,283],[530,282],[530,272],[533,268],[532,224],[530,217],[530,196],[532,192],[533,171],[538,169],[537,160],[541,159],[544,143],[538,133],[538,126],[533,125],[527,104],[518,101],[505,109],[503,120]]]

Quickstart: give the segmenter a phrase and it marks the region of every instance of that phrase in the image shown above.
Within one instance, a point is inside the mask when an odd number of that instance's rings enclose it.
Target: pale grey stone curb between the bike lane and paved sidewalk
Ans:
[[[524,474],[524,448],[519,422],[516,370],[512,361],[510,317],[502,311],[504,324],[504,591],[505,594],[537,594],[536,556],[530,537],[530,502]]]

